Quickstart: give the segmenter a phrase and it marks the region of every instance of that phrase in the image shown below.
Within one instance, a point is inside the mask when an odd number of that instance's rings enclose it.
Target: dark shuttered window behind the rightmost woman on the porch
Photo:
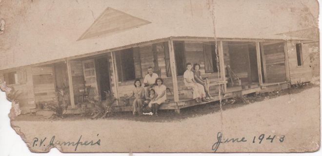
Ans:
[[[206,73],[218,72],[217,53],[215,43],[203,43],[204,69]]]

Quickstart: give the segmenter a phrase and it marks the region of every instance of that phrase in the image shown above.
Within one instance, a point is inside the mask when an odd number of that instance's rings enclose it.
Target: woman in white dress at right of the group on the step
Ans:
[[[160,104],[164,103],[166,100],[166,87],[163,85],[163,79],[158,77],[155,82],[156,86],[153,89],[156,91],[157,98],[152,100],[149,105],[152,106],[152,113],[158,116],[158,110]]]

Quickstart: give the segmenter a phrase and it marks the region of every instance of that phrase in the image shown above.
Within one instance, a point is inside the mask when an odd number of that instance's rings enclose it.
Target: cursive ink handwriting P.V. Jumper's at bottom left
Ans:
[[[55,141],[55,136],[53,136],[49,142],[45,142],[45,140],[47,139],[47,137],[43,138],[43,139],[38,139],[38,138],[34,138],[33,139],[33,147],[34,146],[46,146],[49,147],[49,146],[54,146],[54,144],[59,144],[59,145],[63,145],[63,146],[75,146],[75,151],[77,150],[77,147],[79,145],[81,146],[94,146],[94,145],[98,145],[98,146],[101,146],[101,139],[98,139],[97,141],[88,141],[88,140],[85,140],[85,141],[81,141],[81,137],[78,139],[77,142],[75,141],[59,141],[59,140],[56,140]]]

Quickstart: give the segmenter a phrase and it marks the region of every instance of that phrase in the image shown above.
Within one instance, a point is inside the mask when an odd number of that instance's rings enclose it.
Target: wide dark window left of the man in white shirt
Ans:
[[[135,79],[135,65],[133,49],[125,49],[115,52],[116,66],[118,70],[119,81],[129,81]]]

